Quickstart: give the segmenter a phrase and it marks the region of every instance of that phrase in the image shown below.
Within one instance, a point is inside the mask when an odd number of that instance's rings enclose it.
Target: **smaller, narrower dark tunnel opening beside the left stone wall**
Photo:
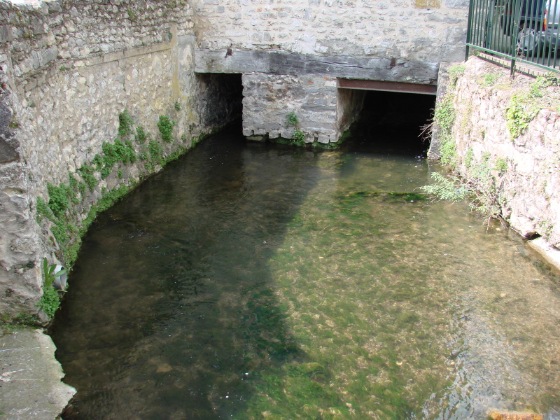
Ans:
[[[195,104],[203,125],[223,127],[241,119],[241,73],[195,73],[195,78]]]

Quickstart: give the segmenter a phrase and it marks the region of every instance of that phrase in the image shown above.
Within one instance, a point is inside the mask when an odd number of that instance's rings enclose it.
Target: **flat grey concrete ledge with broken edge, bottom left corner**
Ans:
[[[64,384],[55,344],[42,330],[0,337],[0,412],[7,420],[54,420],[76,390]]]

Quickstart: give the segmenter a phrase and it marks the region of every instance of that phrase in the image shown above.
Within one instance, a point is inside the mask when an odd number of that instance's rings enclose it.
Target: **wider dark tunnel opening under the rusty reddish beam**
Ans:
[[[433,119],[435,95],[367,90],[349,146],[361,151],[426,155],[426,125]]]

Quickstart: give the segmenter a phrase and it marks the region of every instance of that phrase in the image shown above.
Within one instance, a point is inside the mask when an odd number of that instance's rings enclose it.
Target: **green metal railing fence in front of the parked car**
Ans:
[[[467,51],[560,70],[560,0],[470,0]]]

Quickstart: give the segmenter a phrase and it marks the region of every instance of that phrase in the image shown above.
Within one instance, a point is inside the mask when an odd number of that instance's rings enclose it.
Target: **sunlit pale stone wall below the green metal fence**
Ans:
[[[559,247],[560,87],[521,74],[512,79],[508,69],[478,57],[450,69],[454,75],[447,93],[440,90],[437,106],[451,101],[452,149],[439,133],[431,154],[452,151],[463,176],[488,170],[511,227]]]

